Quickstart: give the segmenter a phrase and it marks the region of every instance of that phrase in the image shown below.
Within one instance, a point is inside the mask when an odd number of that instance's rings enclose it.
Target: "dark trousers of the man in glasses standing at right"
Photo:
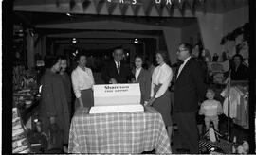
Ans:
[[[198,153],[196,112],[175,112],[174,114],[182,148],[190,149],[190,153]]]

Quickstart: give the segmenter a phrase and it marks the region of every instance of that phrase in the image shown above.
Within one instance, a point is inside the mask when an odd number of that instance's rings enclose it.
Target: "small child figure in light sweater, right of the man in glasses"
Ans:
[[[214,99],[214,95],[215,93],[212,89],[207,90],[206,97],[208,99],[202,103],[199,114],[205,115],[206,130],[210,128],[210,122],[213,122],[214,129],[218,131],[218,115],[223,113],[223,109],[221,103]]]

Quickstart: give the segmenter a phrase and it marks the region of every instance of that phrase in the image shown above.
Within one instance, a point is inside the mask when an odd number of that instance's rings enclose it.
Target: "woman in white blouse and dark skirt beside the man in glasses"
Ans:
[[[168,135],[171,139],[172,135],[172,119],[171,119],[171,95],[168,87],[171,85],[173,71],[166,64],[168,54],[166,51],[156,52],[156,61],[158,66],[152,75],[151,99],[147,105],[152,105],[156,111],[160,112],[167,127]]]

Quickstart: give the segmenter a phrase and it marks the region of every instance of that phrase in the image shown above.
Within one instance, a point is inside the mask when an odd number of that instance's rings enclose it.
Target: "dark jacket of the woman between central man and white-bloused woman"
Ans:
[[[137,77],[137,82],[140,87],[140,103],[144,104],[144,101],[148,101],[150,99],[150,91],[151,91],[151,75],[150,72],[141,68],[140,73]]]

